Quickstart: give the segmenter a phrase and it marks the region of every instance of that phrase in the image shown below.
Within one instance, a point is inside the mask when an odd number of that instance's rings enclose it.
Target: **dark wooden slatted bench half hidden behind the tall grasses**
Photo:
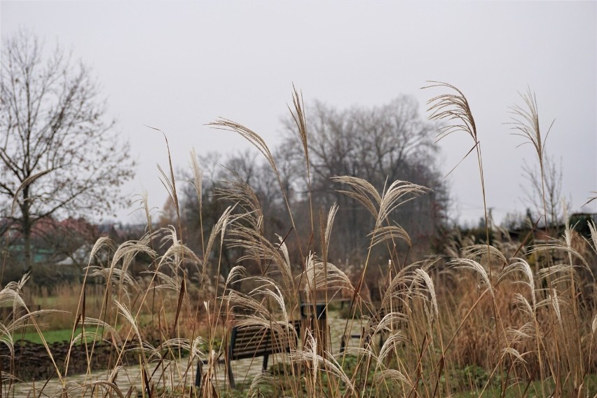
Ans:
[[[299,336],[301,322],[294,320],[291,321],[291,325],[294,331],[296,331],[296,335],[294,335],[294,344],[296,347],[296,336]],[[267,371],[269,356],[280,352],[289,352],[290,348],[291,344],[287,336],[278,336],[278,333],[272,333],[271,329],[263,329],[259,325],[235,326],[231,331],[230,345],[228,345],[226,357],[219,359],[218,363],[226,364],[228,383],[230,383],[232,388],[235,388],[232,361],[236,359],[263,357],[263,371]],[[204,364],[207,364],[207,360],[198,360],[197,374],[195,375],[195,386],[197,386],[198,390],[201,388],[201,379],[203,378],[202,367]]]

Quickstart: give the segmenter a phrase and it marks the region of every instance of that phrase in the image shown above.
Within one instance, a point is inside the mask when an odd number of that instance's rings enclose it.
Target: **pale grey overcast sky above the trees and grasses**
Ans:
[[[176,167],[188,153],[240,151],[241,137],[212,130],[219,116],[280,142],[291,85],[305,102],[334,107],[385,104],[402,94],[425,101],[427,80],[458,86],[469,99],[481,142],[488,206],[496,221],[524,212],[523,159],[530,145],[505,125],[518,92],[537,95],[547,152],[562,160],[573,211],[597,191],[597,3],[353,1],[1,1],[1,36],[33,29],[48,47],[59,42],[92,67],[109,113],[131,143],[137,177],[125,189],[167,198],[156,163],[167,165],[167,133]],[[308,115],[307,115],[308,117]],[[448,172],[470,137],[440,142]],[[451,214],[483,214],[476,158],[448,177]],[[128,221],[130,210],[120,213]]]

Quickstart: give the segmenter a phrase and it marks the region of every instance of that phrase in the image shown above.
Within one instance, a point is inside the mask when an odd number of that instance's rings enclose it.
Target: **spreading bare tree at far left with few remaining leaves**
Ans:
[[[60,48],[43,57],[34,34],[9,37],[0,85],[0,200],[22,234],[29,269],[32,226],[47,217],[109,212],[123,200],[118,187],[134,164],[89,69]]]

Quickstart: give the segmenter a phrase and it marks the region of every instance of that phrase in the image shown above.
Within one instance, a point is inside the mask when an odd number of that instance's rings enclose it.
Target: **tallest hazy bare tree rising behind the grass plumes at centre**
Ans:
[[[335,202],[340,206],[335,226],[334,245],[339,247],[336,253],[350,256],[362,252],[368,245],[366,237],[373,228],[373,219],[355,200],[338,193],[341,187],[332,183],[334,176],[366,179],[378,191],[396,180],[432,188],[432,194],[397,209],[392,220],[428,241],[444,217],[447,189],[434,156],[435,126],[420,117],[416,99],[400,96],[379,107],[340,110],[316,103],[306,109],[306,114],[310,183],[316,205],[327,209]],[[284,148],[289,153],[283,160],[294,162],[294,170],[302,170],[303,149],[293,136],[293,123],[285,123],[289,139]],[[306,181],[302,185],[297,191],[308,189]]]

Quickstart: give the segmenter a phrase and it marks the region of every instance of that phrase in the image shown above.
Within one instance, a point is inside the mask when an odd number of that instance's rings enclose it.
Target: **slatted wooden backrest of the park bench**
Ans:
[[[289,334],[280,334],[272,329],[263,329],[259,325],[233,327],[230,349],[228,355],[231,360],[253,357],[263,357],[276,352],[287,352],[291,348],[289,336],[294,338],[296,347],[296,336],[299,334],[300,321],[291,321],[296,335],[290,331]]]

